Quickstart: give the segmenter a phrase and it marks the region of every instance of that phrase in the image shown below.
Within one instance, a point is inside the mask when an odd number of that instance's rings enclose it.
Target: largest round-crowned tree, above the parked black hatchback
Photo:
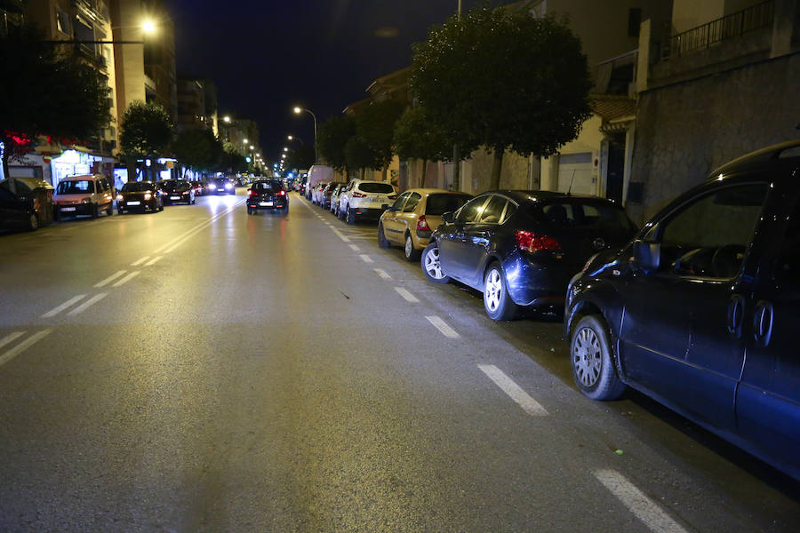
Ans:
[[[530,12],[482,7],[431,28],[414,45],[411,86],[462,151],[494,151],[492,188],[507,149],[553,155],[591,114],[580,39]]]

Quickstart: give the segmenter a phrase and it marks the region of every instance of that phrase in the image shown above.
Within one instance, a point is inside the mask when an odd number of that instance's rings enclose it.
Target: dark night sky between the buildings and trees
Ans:
[[[504,2],[492,2],[503,4]],[[259,123],[265,159],[286,134],[310,143],[320,123],[366,98],[376,78],[411,65],[411,44],[455,13],[458,0],[166,0],[179,76],[211,78],[220,114]],[[477,0],[463,0],[467,12]]]

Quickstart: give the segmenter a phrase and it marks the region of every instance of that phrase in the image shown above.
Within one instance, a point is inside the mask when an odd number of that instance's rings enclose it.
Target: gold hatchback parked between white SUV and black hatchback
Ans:
[[[388,206],[378,222],[378,244],[403,246],[412,261],[428,246],[430,235],[442,223],[445,212],[457,211],[472,195],[436,188],[409,189]]]

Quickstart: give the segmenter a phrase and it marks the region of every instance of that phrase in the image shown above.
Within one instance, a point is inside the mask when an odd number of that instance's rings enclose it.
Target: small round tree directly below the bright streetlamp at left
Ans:
[[[128,162],[131,179],[138,158],[154,159],[170,145],[172,122],[164,107],[154,102],[134,101],[125,109],[119,144]]]

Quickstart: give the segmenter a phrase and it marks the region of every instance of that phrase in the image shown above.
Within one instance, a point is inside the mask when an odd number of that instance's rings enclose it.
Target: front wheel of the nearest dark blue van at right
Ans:
[[[592,400],[616,400],[627,386],[617,376],[608,328],[602,317],[590,314],[578,321],[570,336],[572,378]]]

